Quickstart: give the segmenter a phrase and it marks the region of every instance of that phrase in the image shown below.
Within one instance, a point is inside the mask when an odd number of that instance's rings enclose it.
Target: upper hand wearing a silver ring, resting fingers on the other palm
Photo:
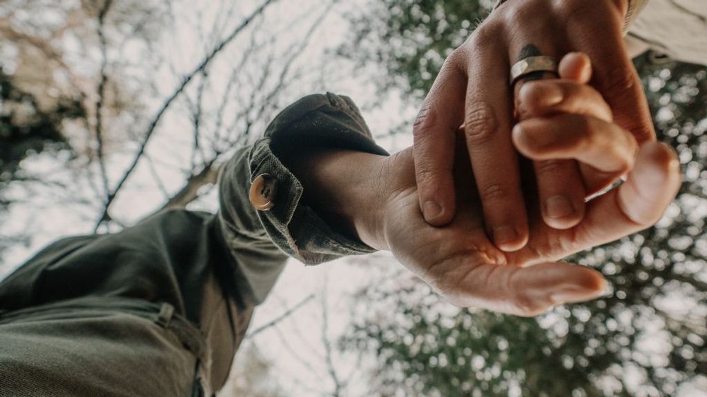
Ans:
[[[489,237],[503,251],[527,244],[532,208],[522,191],[521,158],[511,135],[524,114],[514,109],[513,97],[532,95],[525,93],[525,85],[538,75],[555,78],[554,61],[568,52],[581,51],[591,59],[594,73],[588,82],[607,102],[604,115],[639,145],[655,141],[648,105],[622,40],[628,9],[629,0],[507,0],[452,52],[414,124],[419,206],[428,224],[446,225],[457,212],[453,154],[455,133],[463,125]],[[562,95],[544,98],[563,102]],[[557,229],[578,225],[586,212],[584,198],[620,174],[575,160],[535,160],[532,167],[537,206],[544,222]]]

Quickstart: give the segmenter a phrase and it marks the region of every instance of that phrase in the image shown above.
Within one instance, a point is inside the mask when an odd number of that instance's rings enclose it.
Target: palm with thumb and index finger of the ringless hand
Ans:
[[[399,261],[462,307],[535,315],[555,304],[592,299],[603,292],[602,276],[556,261],[658,220],[677,192],[679,174],[667,149],[649,146],[626,184],[588,203],[575,227],[553,229],[531,210],[530,240],[520,251],[501,251],[489,240],[473,188],[457,195],[457,215],[446,227],[425,222],[414,185],[397,189],[387,208],[387,241]]]

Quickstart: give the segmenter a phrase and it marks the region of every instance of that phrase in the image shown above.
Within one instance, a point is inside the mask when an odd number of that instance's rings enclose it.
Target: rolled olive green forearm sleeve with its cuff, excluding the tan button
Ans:
[[[279,155],[303,146],[344,148],[378,155],[361,113],[348,97],[309,95],[290,105],[252,146],[238,150],[219,177],[218,221],[228,249],[256,303],[262,302],[281,273],[287,256],[308,265],[374,250],[344,237],[312,208],[300,203],[303,186]],[[250,185],[260,174],[274,177],[274,206],[257,211]]]

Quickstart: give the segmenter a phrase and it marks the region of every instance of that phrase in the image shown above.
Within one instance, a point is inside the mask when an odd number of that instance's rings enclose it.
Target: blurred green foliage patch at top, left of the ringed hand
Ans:
[[[428,92],[445,58],[462,45],[491,11],[493,1],[370,1],[351,15],[348,44],[339,54],[359,66],[382,66],[380,90],[402,88],[413,99]]]

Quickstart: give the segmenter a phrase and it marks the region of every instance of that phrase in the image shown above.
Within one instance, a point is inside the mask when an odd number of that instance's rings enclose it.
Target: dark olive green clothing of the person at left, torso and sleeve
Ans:
[[[300,205],[278,160],[296,147],[385,155],[351,100],[310,95],[238,150],[218,214],[153,215],[110,235],[49,245],[0,283],[0,396],[202,396],[221,389],[287,256],[307,264],[373,251]],[[267,173],[274,207],[256,211]]]

